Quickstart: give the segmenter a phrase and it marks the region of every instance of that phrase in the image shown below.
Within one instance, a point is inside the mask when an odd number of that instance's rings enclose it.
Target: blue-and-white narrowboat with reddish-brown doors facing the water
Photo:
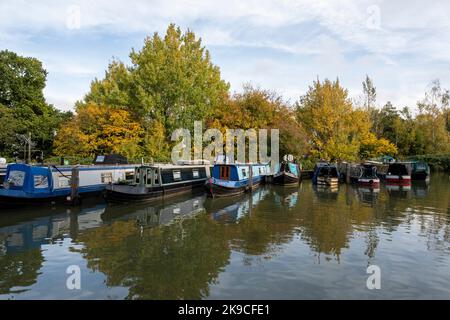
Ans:
[[[210,197],[242,194],[257,188],[269,173],[266,164],[215,164],[206,183],[207,193]]]

